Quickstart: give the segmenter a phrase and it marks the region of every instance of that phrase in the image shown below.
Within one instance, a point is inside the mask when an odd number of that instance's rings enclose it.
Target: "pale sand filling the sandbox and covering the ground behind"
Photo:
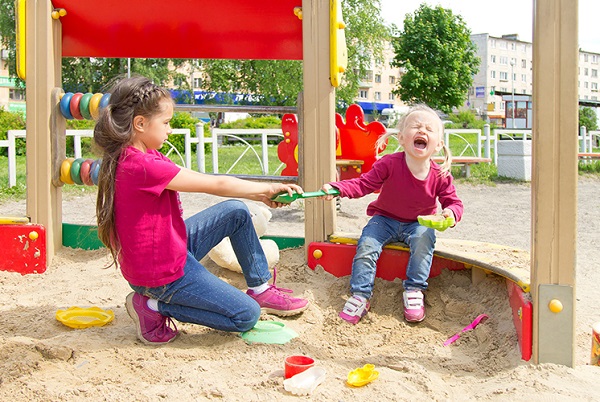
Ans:
[[[495,187],[458,184],[463,221],[440,238],[476,240],[528,250],[531,192],[528,184]],[[580,178],[577,236],[575,367],[521,360],[503,278],[473,285],[468,271],[430,279],[427,318],[407,324],[399,282],[375,283],[371,312],[356,326],[337,313],[348,295],[348,277],[335,278],[304,263],[304,249],[280,252],[278,284],[311,301],[298,317],[264,315],[298,333],[284,345],[247,344],[235,333],[178,323],[171,344],[150,347],[136,339],[124,308],[130,289],[105,250],[63,248],[43,274],[0,272],[0,400],[12,401],[408,401],[597,400],[600,367],[590,366],[591,326],[600,321],[600,179]],[[339,230],[359,233],[374,196],[342,200]],[[63,220],[94,223],[94,196],[63,201]],[[218,202],[184,194],[186,215]],[[0,216],[23,215],[23,203],[0,205]],[[303,236],[303,205],[273,211],[270,235]],[[206,266],[244,289],[240,274],[209,260]],[[104,327],[71,329],[58,309],[97,306],[115,319]],[[489,319],[450,346],[443,342],[477,315]],[[283,361],[306,354],[327,371],[310,397],[283,387]],[[348,373],[374,364],[379,378],[360,388]]]

